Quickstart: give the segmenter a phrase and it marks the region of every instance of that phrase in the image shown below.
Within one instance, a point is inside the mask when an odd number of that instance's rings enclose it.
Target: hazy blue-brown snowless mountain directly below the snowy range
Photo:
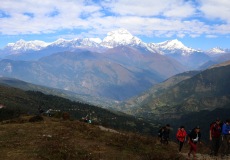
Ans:
[[[170,58],[132,47],[112,48],[103,54],[60,52],[39,61],[0,61],[1,76],[115,100],[139,94],[182,71],[183,66]]]

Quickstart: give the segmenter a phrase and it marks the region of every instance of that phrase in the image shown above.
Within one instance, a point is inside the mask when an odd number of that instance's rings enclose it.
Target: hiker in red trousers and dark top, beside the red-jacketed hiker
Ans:
[[[193,154],[193,158],[196,159],[196,152],[197,152],[197,143],[200,142],[201,133],[200,127],[195,127],[188,135],[188,144],[190,145],[190,150],[188,156],[190,157]]]

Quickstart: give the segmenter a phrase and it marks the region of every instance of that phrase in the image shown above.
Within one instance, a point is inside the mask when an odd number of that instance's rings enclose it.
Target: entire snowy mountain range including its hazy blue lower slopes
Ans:
[[[104,39],[75,38],[72,40],[66,40],[60,38],[51,43],[38,40],[19,40],[15,43],[9,43],[5,48],[0,50],[0,58],[12,60],[38,60],[55,52],[85,49],[101,53],[105,52],[105,50],[119,46],[138,48],[143,51],[143,54],[145,52],[151,52],[171,57],[182,65],[188,67],[188,69],[198,69],[204,64],[222,62],[225,57],[228,57],[226,54],[230,53],[230,49],[221,49],[218,47],[212,48],[208,51],[196,50],[185,46],[177,39],[161,43],[145,43],[138,37],[133,36],[126,29],[121,28],[109,32]],[[208,63],[209,61],[212,61],[212,63]],[[208,65],[205,66],[207,67]]]

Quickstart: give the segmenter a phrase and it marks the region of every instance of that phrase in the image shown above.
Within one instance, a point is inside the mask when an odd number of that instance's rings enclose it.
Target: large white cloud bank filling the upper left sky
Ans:
[[[77,2],[77,3],[76,3]],[[84,5],[84,1],[36,1],[10,0],[1,3],[0,10],[7,12],[10,17],[0,19],[0,33],[29,34],[54,32],[59,29],[75,27],[87,28],[89,24],[82,17],[97,12],[99,7]],[[52,13],[56,15],[52,16]],[[33,14],[33,17],[25,15]]]

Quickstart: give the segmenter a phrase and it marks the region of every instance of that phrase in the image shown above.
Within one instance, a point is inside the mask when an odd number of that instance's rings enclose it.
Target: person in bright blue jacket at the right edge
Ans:
[[[228,156],[230,151],[230,119],[222,126],[221,157]]]

